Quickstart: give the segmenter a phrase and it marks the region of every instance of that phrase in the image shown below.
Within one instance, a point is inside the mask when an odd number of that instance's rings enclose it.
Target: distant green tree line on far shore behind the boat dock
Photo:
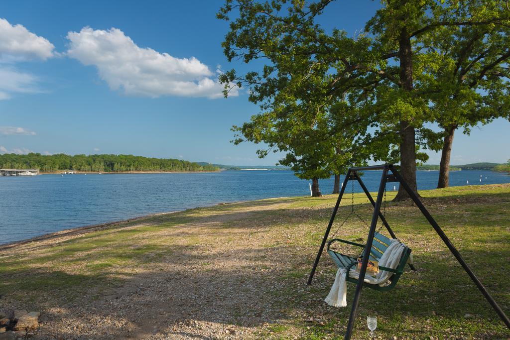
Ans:
[[[0,154],[0,168],[39,169],[42,172],[75,170],[87,172],[124,171],[218,171],[211,164],[198,164],[174,159],[147,158],[131,154],[77,154],[40,153]]]

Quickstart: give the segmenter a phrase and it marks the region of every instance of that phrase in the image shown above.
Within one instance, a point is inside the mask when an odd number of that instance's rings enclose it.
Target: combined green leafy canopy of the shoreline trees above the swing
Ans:
[[[416,191],[416,163],[427,159],[421,149],[441,149],[444,137],[427,123],[468,126],[506,110],[510,11],[499,1],[383,1],[365,33],[348,37],[318,23],[331,2],[225,1],[217,15],[230,21],[225,56],[253,70],[220,80],[225,95],[232,86],[249,88],[261,110],[235,128],[244,137],[236,142],[286,151],[283,162],[300,176],[314,175],[312,159],[330,171],[335,146],[359,150],[340,166],[400,163]],[[334,110],[340,103],[344,110]],[[397,199],[406,196],[399,191]]]

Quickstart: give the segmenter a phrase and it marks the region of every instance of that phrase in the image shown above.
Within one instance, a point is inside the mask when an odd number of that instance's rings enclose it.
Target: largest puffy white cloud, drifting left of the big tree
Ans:
[[[97,67],[112,90],[127,95],[159,97],[222,97],[223,85],[198,59],[175,58],[151,48],[139,47],[124,32],[112,28],[69,32],[67,55],[84,65]],[[217,75],[217,74],[216,74]],[[238,95],[234,89],[230,95]]]

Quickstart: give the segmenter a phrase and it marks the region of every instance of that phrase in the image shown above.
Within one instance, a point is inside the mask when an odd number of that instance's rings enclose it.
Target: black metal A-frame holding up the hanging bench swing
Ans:
[[[370,195],[370,192],[365,187],[365,184],[363,183],[362,179],[358,176],[358,171],[368,171],[368,170],[382,170],[382,176],[379,184],[379,190],[377,192],[377,198],[374,201],[372,196]],[[391,174],[390,174],[391,172]],[[327,225],[326,232],[324,233],[324,238],[322,239],[322,243],[319,248],[319,252],[317,253],[317,257],[315,259],[314,266],[312,267],[312,271],[310,273],[310,276],[308,278],[308,284],[312,283],[312,279],[315,274],[315,270],[317,269],[317,265],[319,264],[319,259],[322,255],[322,252],[324,250],[324,246],[326,245],[327,238],[329,236],[329,231],[331,230],[331,226],[333,226],[333,222],[335,221],[335,216],[338,211],[338,207],[340,206],[340,201],[342,200],[342,196],[344,194],[345,188],[347,187],[347,182],[349,180],[357,180],[367,195],[370,203],[372,203],[374,207],[374,211],[372,214],[372,222],[370,224],[370,231],[368,233],[367,242],[365,243],[365,254],[370,253],[370,248],[372,246],[372,242],[374,239],[375,234],[375,227],[377,225],[377,221],[380,218],[382,221],[382,224],[386,227],[388,232],[391,234],[392,238],[396,239],[395,233],[391,229],[390,225],[385,219],[385,216],[381,214],[380,208],[382,203],[382,198],[386,189],[386,184],[389,182],[399,182],[399,184],[404,188],[404,190],[409,194],[411,199],[414,201],[416,206],[419,208],[423,216],[427,219],[428,223],[432,226],[432,228],[438,233],[439,237],[445,245],[448,247],[448,249],[451,251],[453,256],[457,259],[458,263],[461,264],[462,268],[466,271],[466,273],[469,275],[471,280],[476,284],[478,289],[480,290],[481,294],[487,299],[487,301],[491,304],[491,306],[494,308],[498,316],[501,318],[501,320],[505,323],[506,327],[510,329],[510,319],[505,315],[504,311],[499,307],[497,302],[494,300],[494,298],[489,294],[487,289],[483,286],[483,284],[480,282],[480,280],[476,277],[476,275],[473,273],[471,268],[468,266],[464,258],[462,258],[461,254],[458,252],[458,250],[453,246],[453,244],[450,242],[444,231],[441,229],[441,227],[438,225],[436,220],[433,219],[432,215],[427,211],[425,206],[422,204],[418,196],[411,190],[409,185],[403,180],[403,178],[400,176],[398,171],[395,169],[395,166],[392,164],[383,164],[383,165],[374,165],[374,166],[368,166],[368,167],[355,167],[355,168],[349,168],[347,171],[347,174],[345,176],[342,189],[340,191],[340,194],[338,195],[337,203],[335,204],[335,207],[333,209],[333,214],[331,214],[331,218],[329,219],[329,224]],[[352,335],[352,329],[354,327],[354,320],[356,318],[356,313],[358,312],[358,304],[360,302],[360,295],[361,290],[363,288],[363,283],[365,280],[365,274],[367,271],[367,264],[368,264],[368,256],[363,256],[362,266],[360,269],[360,274],[358,278],[358,283],[356,284],[356,291],[354,293],[354,299],[352,301],[352,308],[349,316],[349,322],[347,324],[347,330],[345,332],[344,339],[350,339]],[[411,267],[414,269],[413,267]]]

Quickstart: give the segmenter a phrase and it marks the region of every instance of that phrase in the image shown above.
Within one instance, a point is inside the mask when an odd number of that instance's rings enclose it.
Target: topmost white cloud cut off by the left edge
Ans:
[[[47,39],[35,35],[23,25],[11,25],[6,19],[0,18],[1,61],[46,60],[55,55],[54,48]]]

